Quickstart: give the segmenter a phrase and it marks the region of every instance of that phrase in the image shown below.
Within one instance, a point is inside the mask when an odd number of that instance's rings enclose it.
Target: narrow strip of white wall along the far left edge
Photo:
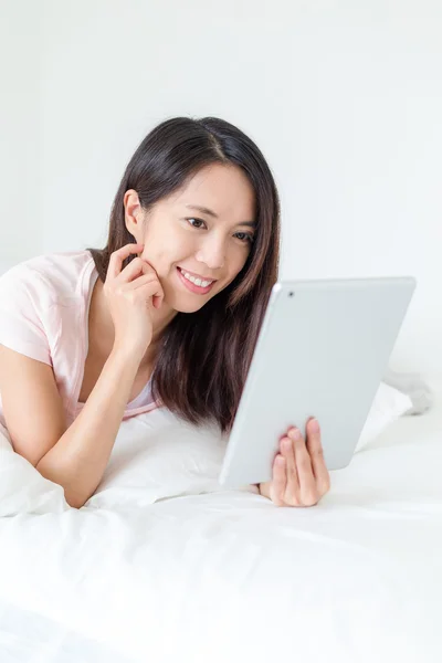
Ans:
[[[0,273],[41,248],[41,12],[0,0]]]

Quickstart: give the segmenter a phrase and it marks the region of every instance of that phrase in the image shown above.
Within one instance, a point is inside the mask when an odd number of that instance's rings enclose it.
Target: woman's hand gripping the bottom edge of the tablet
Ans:
[[[277,506],[313,506],[330,488],[316,419],[307,422],[307,441],[291,428],[280,441],[273,462],[273,480],[259,485],[261,495]]]

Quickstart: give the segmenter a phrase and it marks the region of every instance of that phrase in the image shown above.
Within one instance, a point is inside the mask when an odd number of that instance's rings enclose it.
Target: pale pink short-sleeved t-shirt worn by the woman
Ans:
[[[0,344],[52,366],[70,425],[78,402],[88,348],[88,311],[98,277],[88,251],[53,253],[23,262],[0,277]],[[150,381],[127,403],[123,419],[158,407]],[[0,398],[0,423],[4,418]]]

